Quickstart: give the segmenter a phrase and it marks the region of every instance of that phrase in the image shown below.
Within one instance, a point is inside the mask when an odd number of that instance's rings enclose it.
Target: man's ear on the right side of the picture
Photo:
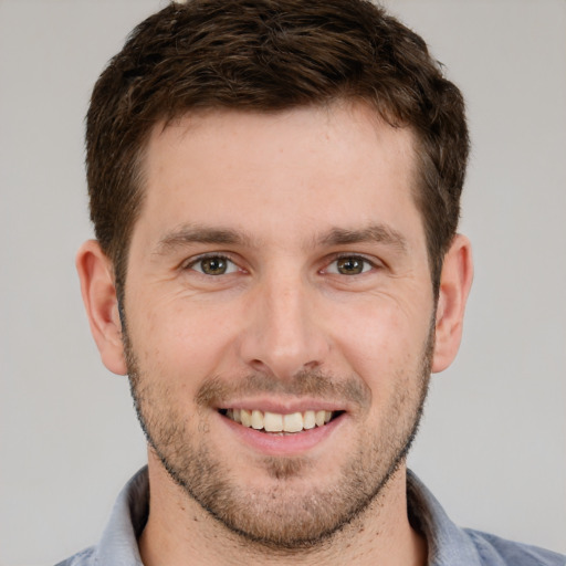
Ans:
[[[462,339],[465,302],[473,279],[472,247],[457,234],[444,255],[437,306],[432,371],[442,371],[455,358]]]

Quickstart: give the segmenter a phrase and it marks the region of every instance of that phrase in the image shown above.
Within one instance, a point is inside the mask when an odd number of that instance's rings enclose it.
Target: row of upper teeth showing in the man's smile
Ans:
[[[332,418],[331,411],[304,411],[280,415],[277,412],[228,409],[226,416],[244,427],[266,432],[301,432],[302,430],[322,427]]]

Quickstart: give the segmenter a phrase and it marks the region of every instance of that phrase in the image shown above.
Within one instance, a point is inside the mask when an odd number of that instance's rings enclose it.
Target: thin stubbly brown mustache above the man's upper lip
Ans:
[[[279,379],[261,373],[248,374],[238,380],[214,376],[200,386],[196,402],[199,407],[222,406],[235,397],[258,394],[316,397],[327,401],[347,401],[361,408],[371,405],[371,390],[361,379],[338,379],[331,374],[316,370],[301,370],[289,379]]]

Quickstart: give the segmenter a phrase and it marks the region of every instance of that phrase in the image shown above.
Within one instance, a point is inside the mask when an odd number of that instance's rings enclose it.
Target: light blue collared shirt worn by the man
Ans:
[[[429,566],[566,566],[566,557],[536,546],[460,528],[410,471],[407,501],[411,524],[427,538]],[[137,537],[149,509],[147,468],[122,490],[99,543],[56,566],[143,566]]]

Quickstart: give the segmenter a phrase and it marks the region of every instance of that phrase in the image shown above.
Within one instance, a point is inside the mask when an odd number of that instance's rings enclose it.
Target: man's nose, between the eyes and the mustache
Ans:
[[[300,275],[264,277],[250,292],[240,355],[253,370],[289,379],[323,365],[329,340],[319,297]]]

